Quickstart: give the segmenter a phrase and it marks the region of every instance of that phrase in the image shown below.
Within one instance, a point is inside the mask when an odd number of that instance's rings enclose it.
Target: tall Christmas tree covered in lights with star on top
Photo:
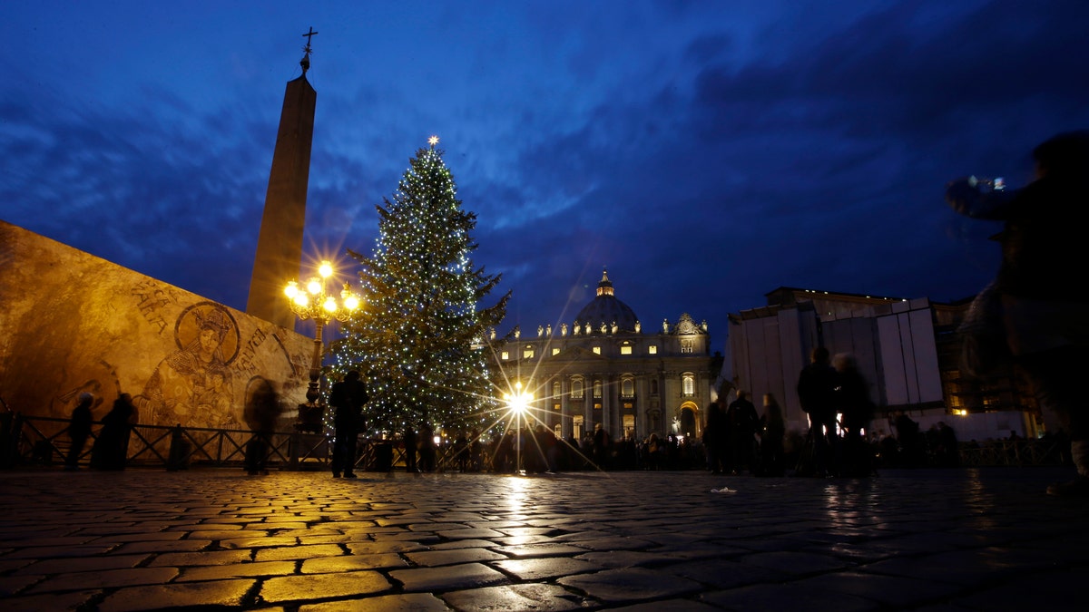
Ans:
[[[374,255],[348,249],[362,265],[365,304],[335,343],[334,369],[363,372],[370,434],[420,421],[482,430],[494,407],[484,344],[503,320],[510,292],[479,307],[500,276],[474,267],[476,215],[462,209],[437,142],[432,136],[416,151],[392,200],[375,207]]]

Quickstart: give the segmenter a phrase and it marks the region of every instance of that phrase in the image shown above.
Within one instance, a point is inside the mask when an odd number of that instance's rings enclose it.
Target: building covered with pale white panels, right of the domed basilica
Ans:
[[[878,405],[871,433],[894,434],[892,416],[901,411],[923,430],[944,420],[960,440],[1005,438],[1011,431],[1035,437],[1043,426],[1044,416],[1012,371],[987,381],[960,376],[955,330],[967,302],[794,287],[779,287],[767,301],[730,315],[719,382],[751,392],[758,408],[762,394],[774,394],[788,429],[807,428],[796,385],[818,345],[857,358]]]

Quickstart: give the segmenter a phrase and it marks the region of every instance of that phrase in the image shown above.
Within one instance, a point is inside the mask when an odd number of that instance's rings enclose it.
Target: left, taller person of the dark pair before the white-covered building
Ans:
[[[840,438],[835,431],[835,369],[829,364],[828,348],[818,346],[809,355],[809,365],[798,376],[798,401],[809,415],[813,474],[835,475]]]

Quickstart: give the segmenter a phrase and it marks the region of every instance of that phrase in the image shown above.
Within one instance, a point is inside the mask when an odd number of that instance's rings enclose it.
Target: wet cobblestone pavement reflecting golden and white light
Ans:
[[[0,610],[1082,610],[1070,476],[0,472]]]

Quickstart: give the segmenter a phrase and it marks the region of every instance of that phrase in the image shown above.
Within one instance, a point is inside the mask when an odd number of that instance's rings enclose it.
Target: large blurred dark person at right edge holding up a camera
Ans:
[[[1089,495],[1089,266],[1084,215],[1089,205],[1089,131],[1059,134],[1032,151],[1036,180],[1021,189],[983,193],[954,181],[946,200],[962,215],[1004,221],[995,278],[1006,345],[1032,381],[1037,400],[1063,420],[1077,478],[1049,494]],[[1073,276],[1072,276],[1073,274]]]

